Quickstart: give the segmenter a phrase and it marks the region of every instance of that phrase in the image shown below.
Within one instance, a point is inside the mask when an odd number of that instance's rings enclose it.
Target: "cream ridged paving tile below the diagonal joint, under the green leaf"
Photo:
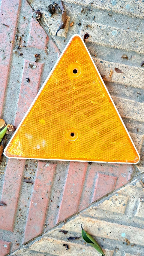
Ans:
[[[100,255],[80,237],[82,224],[83,228],[98,241],[106,256],[142,256],[143,197],[144,188],[140,181],[135,180],[11,255]],[[68,232],[65,235],[59,232],[60,230]],[[70,236],[80,238],[67,241]],[[127,244],[126,239],[130,244]],[[68,244],[68,251],[63,244]]]

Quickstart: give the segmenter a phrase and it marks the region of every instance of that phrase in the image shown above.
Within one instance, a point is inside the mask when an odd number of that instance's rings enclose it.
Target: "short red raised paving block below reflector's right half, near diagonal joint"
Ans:
[[[116,176],[106,175],[102,173],[97,173],[97,179],[95,183],[95,190],[92,198],[92,202],[103,197],[107,193],[113,191],[116,187]],[[91,202],[91,203],[92,203]]]

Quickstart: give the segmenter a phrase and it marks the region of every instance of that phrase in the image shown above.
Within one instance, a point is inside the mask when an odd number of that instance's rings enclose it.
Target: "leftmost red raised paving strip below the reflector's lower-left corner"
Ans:
[[[1,201],[6,206],[0,207],[0,228],[13,231],[15,213],[21,187],[25,160],[9,159],[5,172]]]

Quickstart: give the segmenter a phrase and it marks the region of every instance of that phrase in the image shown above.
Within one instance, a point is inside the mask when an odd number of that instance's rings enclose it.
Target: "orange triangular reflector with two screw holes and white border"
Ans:
[[[79,35],[68,42],[5,155],[138,163],[137,149]]]

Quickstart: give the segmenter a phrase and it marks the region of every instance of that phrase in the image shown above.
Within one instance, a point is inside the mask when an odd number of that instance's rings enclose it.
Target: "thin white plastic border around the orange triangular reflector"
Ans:
[[[68,45],[70,44],[71,40],[72,40],[73,37],[75,37],[75,36],[78,36],[78,37],[82,40],[82,43],[83,43],[83,45],[84,45],[84,47],[85,47],[85,50],[87,51],[89,57],[91,58],[92,63],[93,63],[94,66],[95,66],[95,62],[93,61],[93,59],[92,59],[92,57],[91,57],[91,55],[90,55],[90,53],[89,53],[89,51],[88,51],[88,49],[87,49],[87,47],[86,47],[86,45],[85,45],[85,43],[84,43],[82,37],[81,37],[80,35],[74,34],[74,35],[70,38],[70,40],[68,41],[68,43],[67,43],[67,45],[65,46],[64,50],[62,51],[60,57],[58,58],[57,62],[55,63],[53,69],[51,70],[51,72],[49,73],[48,77],[46,78],[46,81],[44,82],[43,86],[42,86],[41,89],[39,90],[37,96],[36,96],[35,99],[33,100],[32,104],[30,105],[30,107],[29,107],[28,111],[26,112],[25,116],[22,118],[21,122],[19,123],[19,126],[17,127],[15,133],[13,134],[13,136],[11,137],[11,139],[10,139],[10,141],[8,142],[7,146],[5,147],[5,149],[4,149],[4,155],[5,155],[6,157],[7,157],[7,155],[5,154],[5,151],[7,150],[7,147],[9,146],[9,144],[10,144],[10,142],[12,141],[13,137],[15,136],[17,130],[18,130],[19,127],[21,126],[23,120],[26,118],[27,114],[28,114],[29,111],[31,110],[32,106],[34,105],[34,103],[35,103],[35,101],[37,100],[38,96],[40,95],[41,91],[42,91],[43,88],[45,87],[47,81],[49,80],[49,77],[52,75],[53,70],[54,70],[55,67],[57,66],[58,62],[60,61],[62,55],[64,54],[64,52],[65,52],[65,50],[67,49]],[[99,71],[98,71],[98,69],[97,69],[96,66],[95,66],[95,69],[97,70],[98,75],[99,75],[100,78],[101,78],[101,75],[100,75],[100,73],[99,73]],[[125,127],[125,124],[124,124],[124,122],[123,122],[123,120],[122,120],[122,118],[121,118],[121,116],[120,116],[120,114],[119,114],[119,112],[118,112],[118,110],[117,110],[117,108],[116,108],[116,106],[115,106],[115,104],[114,104],[114,102],[113,102],[113,99],[111,98],[110,93],[108,92],[107,87],[106,87],[106,85],[104,84],[104,81],[103,81],[102,78],[101,78],[101,82],[103,83],[103,85],[104,85],[104,87],[105,87],[105,89],[106,89],[106,91],[107,91],[107,93],[108,93],[108,95],[109,95],[109,97],[110,97],[110,99],[111,99],[111,101],[112,101],[112,103],[113,103],[113,106],[114,106],[114,108],[116,109],[116,112],[118,113],[119,118],[120,118],[120,120],[121,120],[121,122],[122,122],[122,124],[123,124],[123,126],[124,126],[124,128],[125,128],[125,130],[126,130],[126,132],[127,132],[127,134],[128,134],[128,136],[129,136],[129,138],[130,138],[130,140],[131,140],[131,142],[132,142],[132,144],[133,144],[133,146],[134,146],[134,148],[135,148],[135,150],[136,150],[136,152],[137,152],[137,154],[138,154],[138,156],[139,156],[139,159],[140,159],[140,155],[139,155],[139,153],[138,153],[138,151],[137,151],[137,148],[135,147],[134,142],[132,141],[131,136],[129,135],[127,128]],[[122,162],[102,162],[102,161],[90,161],[90,160],[88,160],[88,161],[82,160],[82,161],[81,161],[81,160],[69,160],[69,159],[42,159],[42,158],[26,158],[26,157],[8,157],[8,158],[15,158],[15,159],[37,159],[37,160],[54,160],[54,161],[59,161],[59,160],[61,160],[61,161],[94,162],[94,163],[120,163],[120,164],[122,163]],[[139,160],[138,160],[138,162],[139,162]],[[138,163],[138,162],[137,162],[137,163]],[[126,164],[137,164],[137,163],[126,163]]]

